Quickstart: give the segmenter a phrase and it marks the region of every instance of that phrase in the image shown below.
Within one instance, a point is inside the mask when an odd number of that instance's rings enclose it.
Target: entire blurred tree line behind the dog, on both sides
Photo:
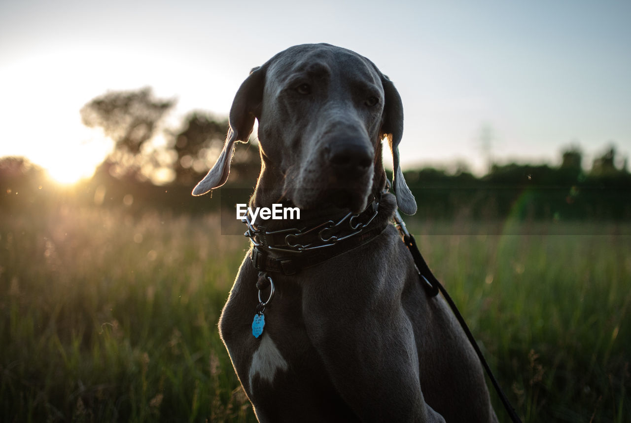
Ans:
[[[59,187],[42,169],[23,158],[0,159],[0,210],[24,212],[45,206],[124,206],[205,212],[219,207],[210,196],[194,198],[192,187],[214,164],[228,131],[225,117],[192,111],[179,128],[164,128],[174,99],[156,98],[150,88],[108,92],[81,109],[86,126],[100,129],[114,149],[88,181]],[[260,170],[256,140],[237,146],[227,188],[252,191]],[[591,170],[582,152],[570,146],[558,167],[493,164],[476,177],[460,166],[456,172],[418,169],[405,172],[422,218],[614,219],[631,218],[631,175],[627,162],[610,146]]]

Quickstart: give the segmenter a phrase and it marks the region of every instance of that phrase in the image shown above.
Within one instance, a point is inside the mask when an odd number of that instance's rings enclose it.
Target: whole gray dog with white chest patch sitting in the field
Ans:
[[[240,86],[223,151],[194,195],[226,182],[255,118],[262,168],[251,206],[302,212],[298,222],[247,222],[253,247],[221,314],[259,421],[497,422],[480,361],[390,223],[397,206],[416,212],[392,82],[333,45],[276,54]]]

